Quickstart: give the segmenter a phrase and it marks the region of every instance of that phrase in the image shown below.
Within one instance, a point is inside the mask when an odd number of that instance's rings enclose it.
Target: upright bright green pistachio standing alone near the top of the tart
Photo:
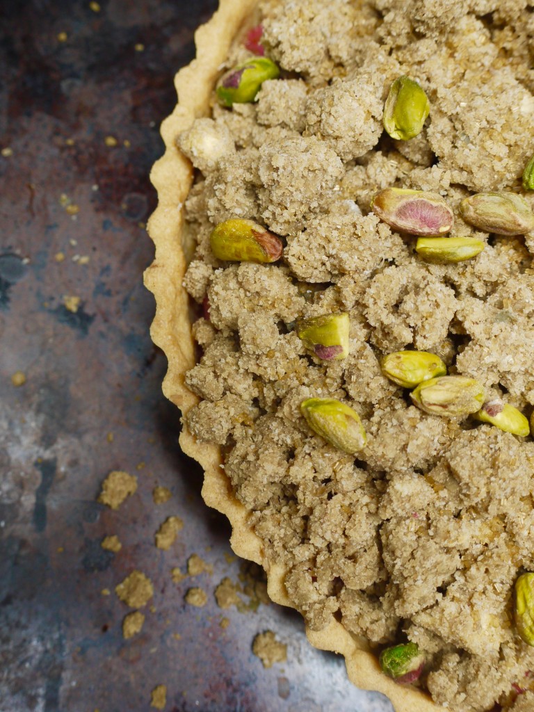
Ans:
[[[392,138],[407,141],[417,136],[430,113],[429,98],[407,76],[394,80],[384,105],[384,129]]]

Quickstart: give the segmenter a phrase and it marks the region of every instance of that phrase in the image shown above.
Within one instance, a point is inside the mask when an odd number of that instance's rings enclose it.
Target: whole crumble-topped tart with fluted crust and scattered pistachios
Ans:
[[[204,500],[397,712],[534,709],[533,17],[221,0],[151,175]]]

